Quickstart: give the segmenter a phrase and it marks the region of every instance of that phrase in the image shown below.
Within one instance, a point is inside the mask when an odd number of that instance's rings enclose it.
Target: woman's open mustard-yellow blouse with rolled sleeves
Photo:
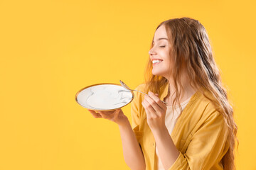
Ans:
[[[144,86],[140,84],[136,89],[146,92]],[[169,84],[161,89],[159,98],[162,101],[168,90]],[[132,129],[142,148],[146,170],[156,170],[156,142],[146,122],[143,100],[144,94],[134,91],[131,103]],[[221,159],[228,151],[227,137],[228,125],[223,115],[216,111],[208,98],[197,91],[191,96],[171,132],[171,138],[180,154],[168,170],[223,169]]]

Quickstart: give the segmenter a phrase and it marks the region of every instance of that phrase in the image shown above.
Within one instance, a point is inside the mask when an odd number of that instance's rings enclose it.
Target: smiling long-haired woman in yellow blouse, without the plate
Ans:
[[[192,18],[159,24],[132,127],[121,109],[90,111],[119,125],[131,169],[235,169],[237,125],[205,28]],[[164,103],[165,101],[166,103]]]

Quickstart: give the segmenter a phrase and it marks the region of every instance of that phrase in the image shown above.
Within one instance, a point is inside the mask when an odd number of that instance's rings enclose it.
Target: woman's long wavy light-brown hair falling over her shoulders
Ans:
[[[233,170],[235,169],[235,140],[239,145],[236,136],[238,127],[233,118],[233,107],[228,101],[227,91],[222,85],[219,69],[213,59],[208,33],[203,25],[193,18],[169,19],[160,23],[156,30],[162,25],[166,28],[169,44],[171,45],[169,57],[174,63],[170,72],[176,90],[176,97],[172,106],[174,107],[178,103],[178,106],[181,107],[178,98],[180,98],[183,91],[181,68],[185,66],[185,73],[191,81],[191,86],[198,90],[204,89],[202,90],[204,96],[206,96],[205,91],[211,94],[212,97],[206,97],[213,101],[228,124],[230,147],[222,159],[222,164],[225,170]],[[153,40],[150,49],[153,47]],[[145,69],[145,90],[159,94],[161,88],[164,88],[169,81],[165,77],[152,74],[152,68],[152,62],[149,58]],[[181,88],[178,88],[178,86]]]

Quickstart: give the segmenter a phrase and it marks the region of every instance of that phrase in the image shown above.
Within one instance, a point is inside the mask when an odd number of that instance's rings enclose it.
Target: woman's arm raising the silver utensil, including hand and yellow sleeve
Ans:
[[[166,106],[150,91],[149,96],[144,97],[142,105],[145,108],[146,120],[155,137],[165,169],[223,169],[218,163],[227,152],[229,131],[223,115],[215,110],[214,106],[208,105],[208,108],[203,110],[201,121],[197,124],[196,129],[193,128],[189,134],[188,147],[182,154],[180,151],[177,152],[171,137],[165,130]]]

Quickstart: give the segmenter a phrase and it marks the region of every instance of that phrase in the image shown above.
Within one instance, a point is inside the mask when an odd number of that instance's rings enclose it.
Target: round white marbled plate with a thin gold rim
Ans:
[[[80,106],[93,111],[114,111],[127,106],[134,99],[134,93],[119,84],[93,84],[75,95]]]

